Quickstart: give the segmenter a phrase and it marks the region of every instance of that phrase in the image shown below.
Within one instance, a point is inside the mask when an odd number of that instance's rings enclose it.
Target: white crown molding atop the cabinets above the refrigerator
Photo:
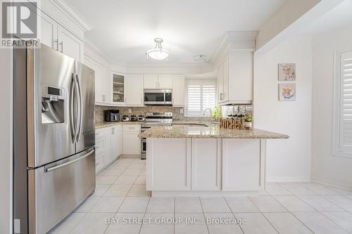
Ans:
[[[65,15],[73,20],[78,27],[80,27],[84,32],[92,30],[92,27],[84,20],[84,18],[78,13],[73,6],[68,4],[65,0],[50,0],[55,6],[61,9]]]

